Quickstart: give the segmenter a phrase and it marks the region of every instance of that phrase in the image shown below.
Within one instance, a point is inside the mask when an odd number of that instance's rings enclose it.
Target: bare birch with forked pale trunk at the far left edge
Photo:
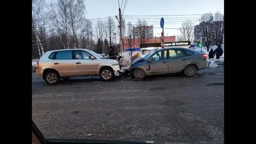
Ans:
[[[41,26],[47,23],[47,13],[44,10],[45,7],[46,4],[44,0],[32,0],[32,31],[34,31],[36,37],[39,57],[45,53],[39,38],[39,30]]]

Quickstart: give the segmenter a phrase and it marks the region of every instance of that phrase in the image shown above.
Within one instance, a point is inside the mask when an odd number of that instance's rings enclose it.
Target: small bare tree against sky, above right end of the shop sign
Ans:
[[[179,29],[180,35],[178,35],[178,41],[193,41],[194,38],[194,22],[186,21],[181,24]]]

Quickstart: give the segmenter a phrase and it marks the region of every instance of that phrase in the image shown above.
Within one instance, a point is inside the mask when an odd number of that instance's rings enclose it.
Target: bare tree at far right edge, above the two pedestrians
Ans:
[[[223,33],[224,33],[224,23],[223,23],[223,15],[217,11],[214,15],[214,23],[213,23],[213,32],[214,32],[214,42],[216,45],[223,43]]]

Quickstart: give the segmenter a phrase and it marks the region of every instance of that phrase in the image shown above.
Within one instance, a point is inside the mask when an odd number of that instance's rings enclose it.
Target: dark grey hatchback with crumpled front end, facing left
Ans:
[[[198,70],[208,68],[208,55],[187,48],[163,48],[132,62],[131,70],[136,78],[147,75],[183,72],[194,76]]]

